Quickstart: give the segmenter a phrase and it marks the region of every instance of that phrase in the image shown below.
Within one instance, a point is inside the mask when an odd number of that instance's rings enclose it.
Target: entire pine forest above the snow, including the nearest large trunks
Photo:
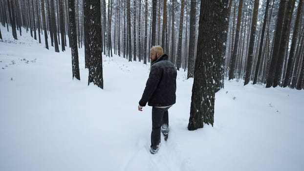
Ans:
[[[161,45],[177,70],[194,78],[189,130],[213,126],[224,80],[304,88],[303,0],[0,0],[0,6],[0,22],[14,39],[30,32],[42,43],[44,36],[45,48],[50,38],[58,53],[68,44],[78,80],[84,48],[88,85],[100,88],[102,54],[148,64],[150,48]]]

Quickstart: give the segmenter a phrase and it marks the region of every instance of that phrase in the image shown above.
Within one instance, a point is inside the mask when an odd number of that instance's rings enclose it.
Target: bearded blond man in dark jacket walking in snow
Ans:
[[[152,133],[150,152],[155,154],[159,149],[160,131],[165,141],[169,133],[168,109],[175,104],[176,68],[168,60],[168,55],[163,54],[161,46],[150,49],[151,70],[138,110],[142,107],[152,106]]]

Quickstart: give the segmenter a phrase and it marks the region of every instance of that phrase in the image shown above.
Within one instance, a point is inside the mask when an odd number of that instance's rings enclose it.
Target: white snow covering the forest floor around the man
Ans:
[[[0,29],[0,171],[304,169],[303,90],[226,80],[214,127],[188,131],[193,79],[178,71],[169,138],[152,155],[151,107],[137,110],[150,64],[104,56],[104,89],[87,86],[84,49],[72,80],[69,48]]]

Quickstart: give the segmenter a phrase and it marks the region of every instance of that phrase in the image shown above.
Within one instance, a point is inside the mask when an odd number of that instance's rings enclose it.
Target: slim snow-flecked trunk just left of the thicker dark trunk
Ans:
[[[72,75],[77,80],[80,80],[79,62],[78,62],[78,48],[77,48],[77,30],[75,21],[75,0],[68,0],[68,15],[70,19],[70,38],[71,38],[71,53],[72,53]],[[64,44],[64,43],[63,43]]]

